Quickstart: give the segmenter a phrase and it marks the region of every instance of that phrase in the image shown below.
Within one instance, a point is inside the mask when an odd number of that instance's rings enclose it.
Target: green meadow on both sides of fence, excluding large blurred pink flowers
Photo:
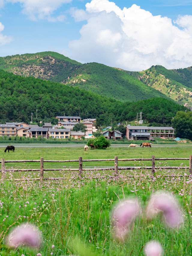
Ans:
[[[190,154],[190,146],[154,146],[151,149],[110,147],[106,150],[88,152],[84,152],[83,147],[18,147],[14,153],[9,154],[5,154],[1,148],[1,157],[5,160],[39,160],[40,157],[46,160],[67,160],[78,159],[79,156],[83,159],[105,159],[114,158],[116,155],[119,158],[151,158],[152,155],[187,158]],[[188,161],[166,162],[163,164],[188,166]],[[104,167],[109,163],[113,166],[113,162],[97,162],[97,165]],[[39,166],[39,163],[32,164]],[[46,168],[48,164],[50,163],[44,163],[44,167]],[[78,163],[73,164],[78,168]],[[93,162],[93,166],[94,164],[96,163]],[[119,161],[119,166],[121,164],[140,166],[143,163]],[[58,167],[55,163],[54,166]],[[72,254],[136,256],[144,255],[143,248],[150,240],[161,243],[164,255],[192,255],[192,182],[187,169],[162,169],[160,173],[152,176],[150,170],[143,168],[139,171],[140,175],[137,170],[129,170],[120,171],[119,177],[116,177],[112,171],[84,171],[82,179],[79,178],[78,172],[61,171],[58,173],[64,179],[58,181],[51,179],[40,183],[27,179],[14,181],[14,168],[15,164],[9,166],[9,171],[1,173],[0,178],[1,256],[33,256],[38,253],[42,256]],[[36,173],[38,176],[39,172]],[[161,177],[162,174],[167,176]],[[32,174],[28,172],[19,172],[19,175],[23,178],[32,178]],[[47,176],[49,175],[47,172]],[[149,198],[156,191],[167,191],[176,196],[183,216],[183,224],[180,227],[173,229],[165,226],[162,214],[158,214],[152,220],[146,218]],[[111,215],[116,203],[127,197],[137,197],[141,211],[131,224],[125,239],[119,240],[113,233]],[[8,247],[6,237],[12,227],[27,221],[40,229],[43,239],[41,247],[38,249],[25,246],[15,249]]]

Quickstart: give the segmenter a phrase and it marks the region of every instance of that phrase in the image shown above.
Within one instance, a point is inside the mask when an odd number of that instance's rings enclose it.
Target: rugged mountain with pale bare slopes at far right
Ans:
[[[192,108],[192,67],[168,70],[156,65],[141,72],[124,72],[162,92],[179,104]]]

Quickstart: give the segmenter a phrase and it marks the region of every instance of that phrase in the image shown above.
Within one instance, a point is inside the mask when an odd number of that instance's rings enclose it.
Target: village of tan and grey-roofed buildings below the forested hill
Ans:
[[[98,129],[96,128],[96,119],[81,119],[79,116],[56,116],[58,119],[56,125],[51,122],[44,123],[42,127],[34,124],[27,124],[25,122],[6,122],[0,124],[0,136],[6,135],[19,136],[26,138],[52,138],[52,139],[82,139],[94,137],[93,133]],[[86,126],[86,131],[73,131],[73,127],[82,123]],[[107,127],[111,128],[111,127]],[[123,133],[118,130],[103,129],[101,134],[106,139],[123,139]],[[174,129],[172,127],[153,127],[153,126],[137,126],[127,125],[125,137],[128,140],[153,140],[155,137],[173,138]]]

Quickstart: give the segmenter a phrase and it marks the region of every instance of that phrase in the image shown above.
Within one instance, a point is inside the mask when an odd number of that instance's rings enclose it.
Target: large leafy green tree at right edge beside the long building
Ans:
[[[178,111],[172,120],[172,126],[176,130],[175,136],[192,139],[192,112]]]

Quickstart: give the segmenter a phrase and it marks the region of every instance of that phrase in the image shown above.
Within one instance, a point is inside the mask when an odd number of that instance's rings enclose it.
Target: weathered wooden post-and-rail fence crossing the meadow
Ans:
[[[40,160],[5,160],[4,158],[1,158],[1,172],[6,171],[5,169],[5,163],[22,163],[22,162],[40,162],[40,169],[14,169],[14,171],[40,171],[40,178],[37,180],[40,180],[41,182],[44,179],[44,171],[55,171],[55,170],[68,170],[68,171],[79,171],[79,177],[82,177],[82,171],[88,171],[88,170],[115,170],[115,175],[118,176],[119,170],[133,170],[133,169],[143,169],[143,166],[127,166],[127,167],[118,167],[118,161],[152,161],[151,166],[145,166],[145,169],[151,169],[152,175],[155,173],[155,169],[177,169],[178,166],[164,166],[164,167],[155,167],[155,160],[156,161],[166,161],[166,160],[189,160],[189,166],[179,166],[179,169],[189,169],[189,173],[192,173],[192,155],[189,156],[189,158],[155,158],[155,155],[152,155],[152,158],[125,158],[125,159],[118,159],[118,156],[115,156],[114,159],[82,159],[82,157],[79,157],[79,159],[75,160],[44,160],[43,157],[40,158]],[[114,167],[103,167],[103,168],[82,168],[82,162],[94,162],[94,161],[113,161]],[[79,162],[79,168],[73,169],[73,168],[59,168],[59,169],[45,169],[44,168],[44,162],[51,162],[51,163],[66,163],[66,162]],[[59,179],[59,178],[55,178]],[[17,179],[19,180],[19,179]]]

